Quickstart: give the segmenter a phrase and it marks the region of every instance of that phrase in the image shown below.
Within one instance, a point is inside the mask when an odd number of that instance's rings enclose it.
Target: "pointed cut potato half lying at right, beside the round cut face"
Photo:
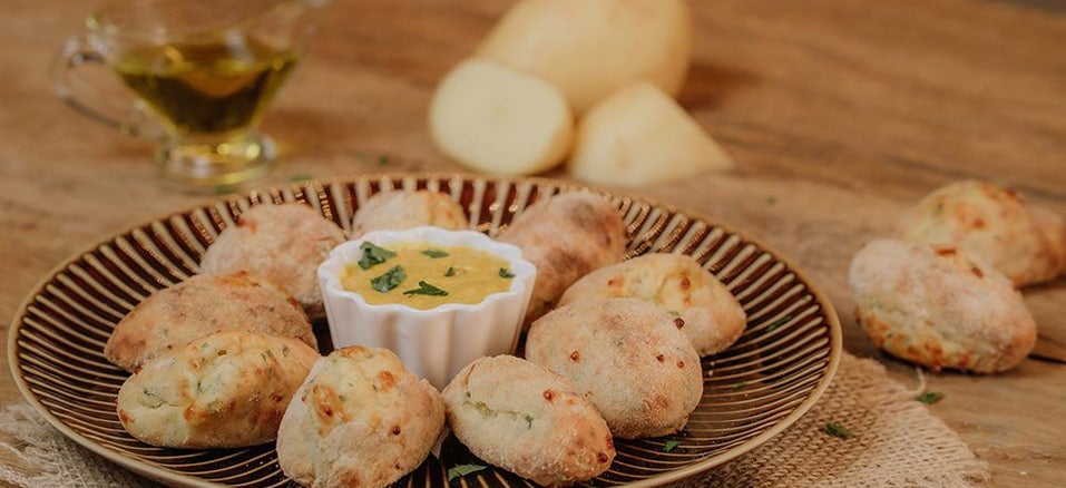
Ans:
[[[640,81],[585,115],[567,169],[594,184],[640,186],[732,166],[684,108],[655,85]]]

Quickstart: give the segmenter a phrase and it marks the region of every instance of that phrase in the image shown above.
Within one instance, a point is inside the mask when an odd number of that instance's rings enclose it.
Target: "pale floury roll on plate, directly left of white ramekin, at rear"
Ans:
[[[255,205],[218,234],[204,253],[199,272],[247,271],[262,276],[295,296],[311,319],[320,319],[325,310],[317,267],[344,241],[341,227],[306,205]]]

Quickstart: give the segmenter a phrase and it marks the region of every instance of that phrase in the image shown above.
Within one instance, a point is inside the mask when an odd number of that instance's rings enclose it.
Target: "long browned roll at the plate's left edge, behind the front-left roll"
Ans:
[[[136,371],[156,355],[221,331],[295,338],[319,347],[311,321],[292,295],[241,272],[190,276],[149,295],[115,326],[104,357]]]

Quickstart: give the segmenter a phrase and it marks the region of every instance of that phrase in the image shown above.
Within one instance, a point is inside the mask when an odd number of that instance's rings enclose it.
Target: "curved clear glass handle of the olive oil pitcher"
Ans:
[[[149,119],[147,108],[134,97],[127,97],[129,98],[127,107],[129,107],[130,114],[120,117],[108,115],[108,111],[117,113],[119,110],[102,108],[106,105],[104,103],[106,97],[85,79],[79,80],[79,86],[82,89],[76,94],[71,84],[71,81],[78,79],[75,71],[86,65],[99,65],[107,69],[104,56],[90,48],[82,37],[72,37],[67,40],[57,53],[51,67],[52,89],[63,103],[79,114],[106,124],[128,136],[145,139],[158,139],[163,136],[162,127]],[[92,101],[89,101],[90,99]]]

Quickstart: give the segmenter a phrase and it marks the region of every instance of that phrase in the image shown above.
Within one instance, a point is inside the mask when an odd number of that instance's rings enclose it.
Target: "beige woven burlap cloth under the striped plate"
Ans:
[[[987,481],[986,462],[915,391],[877,361],[845,353],[821,400],[799,422],[685,486],[964,487]],[[935,407],[933,407],[935,408]],[[854,437],[825,432],[828,423]],[[13,487],[155,486],[50,428],[29,404],[0,410],[0,484]]]

